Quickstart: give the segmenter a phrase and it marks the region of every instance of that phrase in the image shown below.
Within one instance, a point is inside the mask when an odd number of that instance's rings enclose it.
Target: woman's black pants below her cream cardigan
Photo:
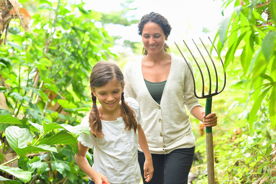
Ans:
[[[153,178],[147,183],[143,169],[145,155],[138,151],[138,162],[144,184],[187,184],[194,154],[195,146],[176,149],[169,154],[152,154]]]

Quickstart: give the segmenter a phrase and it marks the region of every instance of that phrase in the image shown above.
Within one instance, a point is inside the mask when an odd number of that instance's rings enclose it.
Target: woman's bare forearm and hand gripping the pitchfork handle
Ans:
[[[214,127],[217,125],[216,113],[210,113],[206,116],[205,111],[201,106],[193,108],[191,113],[195,118],[203,122],[205,127]]]

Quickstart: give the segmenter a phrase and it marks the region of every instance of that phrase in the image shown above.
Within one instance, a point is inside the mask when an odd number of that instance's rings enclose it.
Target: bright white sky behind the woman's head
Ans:
[[[124,1],[124,0],[123,0]],[[90,8],[99,12],[110,12],[120,10],[122,0],[87,0]],[[218,24],[223,18],[221,14],[222,0],[136,0],[131,3],[130,8],[138,7],[137,10],[129,12],[140,19],[144,14],[157,12],[166,17],[172,26],[171,34],[167,43],[174,45],[182,40],[201,38],[214,38]],[[225,12],[229,15],[232,12]],[[208,28],[211,33],[202,32],[203,27]],[[110,35],[120,35],[130,41],[141,41],[137,34],[137,24],[131,26],[107,25],[105,29]],[[182,42],[183,43],[183,42]]]

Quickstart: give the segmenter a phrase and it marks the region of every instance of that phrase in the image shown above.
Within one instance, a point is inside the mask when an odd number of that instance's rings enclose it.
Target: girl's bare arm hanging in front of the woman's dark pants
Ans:
[[[152,155],[150,154],[150,150],[148,149],[146,136],[140,124],[137,125],[137,131],[139,145],[145,154],[144,178],[146,178],[146,182],[149,182],[152,179],[153,175]]]

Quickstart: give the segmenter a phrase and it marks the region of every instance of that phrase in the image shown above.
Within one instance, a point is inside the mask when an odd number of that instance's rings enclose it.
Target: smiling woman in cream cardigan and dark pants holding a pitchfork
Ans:
[[[205,116],[195,97],[192,76],[183,58],[166,52],[165,41],[170,31],[171,26],[162,15],[155,12],[144,15],[138,25],[144,57],[129,63],[124,70],[125,95],[135,98],[143,113],[141,126],[154,168],[149,183],[154,184],[187,183],[195,137],[185,106],[205,127],[217,125],[216,114]],[[138,150],[143,176],[145,158],[142,150]]]

